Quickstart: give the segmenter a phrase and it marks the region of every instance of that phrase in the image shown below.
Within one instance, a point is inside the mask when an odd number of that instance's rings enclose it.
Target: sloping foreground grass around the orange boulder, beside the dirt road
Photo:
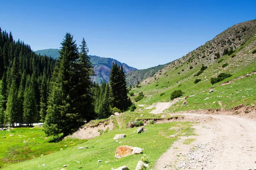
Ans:
[[[136,128],[117,129],[104,133],[94,139],[82,144],[51,153],[46,156],[23,161],[17,164],[11,164],[3,167],[3,170],[60,170],[64,164],[68,164],[68,169],[81,170],[106,170],[126,165],[129,169],[135,169],[137,162],[141,160],[143,154],[150,157],[150,167],[154,167],[157,159],[175,142],[178,138],[170,138],[169,135],[177,134],[181,136],[183,133],[187,135],[195,135],[191,128],[192,123],[189,122],[172,122],[166,124],[147,125],[145,128],[147,133],[134,133]],[[172,128],[172,130],[169,130]],[[183,130],[175,131],[175,128],[183,128]],[[113,140],[115,134],[125,133],[127,137],[119,139],[119,142]],[[155,141],[155,142],[154,142]],[[143,154],[131,155],[122,159],[114,157],[115,150],[118,146],[130,145],[134,147],[144,148]],[[78,146],[88,146],[88,149],[78,150]],[[161,146],[161,147],[159,147]],[[102,162],[98,162],[102,160]],[[105,163],[105,161],[109,161]],[[42,167],[45,164],[45,167]],[[110,166],[109,166],[110,164]]]

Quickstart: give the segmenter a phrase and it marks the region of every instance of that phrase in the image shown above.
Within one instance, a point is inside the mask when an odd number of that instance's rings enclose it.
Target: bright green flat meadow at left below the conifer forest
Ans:
[[[2,138],[5,136],[6,138]],[[0,167],[16,162],[34,159],[60,149],[80,144],[86,140],[64,139],[49,143],[42,128],[15,128],[11,131],[0,131]],[[23,141],[27,141],[23,143]],[[68,147],[65,147],[68,145]]]

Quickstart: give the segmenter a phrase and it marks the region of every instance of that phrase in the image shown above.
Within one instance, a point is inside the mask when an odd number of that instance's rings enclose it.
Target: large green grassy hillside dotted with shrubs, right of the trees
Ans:
[[[223,55],[224,49],[233,48],[233,54]],[[182,90],[183,97],[190,96],[188,105],[182,106],[182,100],[169,111],[189,109],[233,108],[239,104],[256,105],[256,74],[244,77],[256,71],[256,20],[247,21],[228,28],[214,39],[186,56],[166,65],[165,68],[141,82],[141,88],[133,88],[136,97],[143,91],[144,99],[137,104],[169,102],[174,90]],[[220,57],[216,59],[220,54]],[[224,64],[227,63],[225,67]],[[195,76],[202,65],[208,68]],[[221,82],[211,84],[210,79],[220,73],[232,74]],[[243,76],[244,78],[238,79]],[[201,79],[194,83],[195,79]],[[231,81],[230,84],[221,85]],[[213,93],[209,90],[213,89]]]

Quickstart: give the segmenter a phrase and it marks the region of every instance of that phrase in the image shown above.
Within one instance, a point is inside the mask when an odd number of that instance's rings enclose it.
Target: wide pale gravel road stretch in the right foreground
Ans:
[[[200,119],[198,136],[184,136],[157,161],[156,170],[256,169],[256,121],[238,116],[184,113]],[[212,117],[213,119],[207,119]],[[205,120],[205,121],[204,121]],[[186,139],[195,139],[183,144]]]

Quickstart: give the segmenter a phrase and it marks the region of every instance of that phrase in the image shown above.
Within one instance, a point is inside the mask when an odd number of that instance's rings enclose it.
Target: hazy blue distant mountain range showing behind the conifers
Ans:
[[[38,51],[35,51],[35,53],[46,55],[53,58],[58,58],[60,55],[58,52],[58,49],[38,50]],[[109,81],[109,74],[110,74],[110,70],[112,68],[113,62],[116,62],[117,65],[122,65],[125,73],[137,70],[136,68],[130,67],[125,63],[117,61],[116,59],[91,56],[91,55],[89,55],[89,57],[90,57],[90,61],[93,63],[93,67],[94,67],[93,70],[96,73],[96,76],[93,77],[93,81],[99,84],[102,84],[102,82]]]

